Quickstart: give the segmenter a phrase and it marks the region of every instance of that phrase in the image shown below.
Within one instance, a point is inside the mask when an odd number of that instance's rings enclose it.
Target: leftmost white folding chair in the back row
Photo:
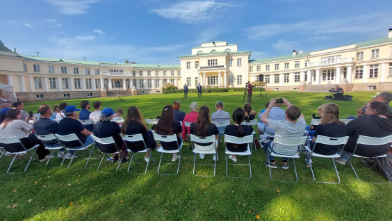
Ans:
[[[37,147],[40,147],[40,145],[34,145],[30,149],[27,149],[26,147],[24,147],[22,142],[20,142],[19,138],[17,138],[17,137],[0,138],[0,143],[2,143],[4,145],[3,147],[4,147],[4,149],[6,149],[8,154],[15,155],[13,158],[13,161],[10,163],[10,166],[8,167],[8,170],[7,170],[8,174],[16,174],[16,172],[10,172],[10,169],[13,166],[13,163],[19,154],[28,155],[28,152],[34,151],[33,154],[31,154],[30,160],[28,160],[26,167],[24,168],[23,172],[26,172],[28,165],[30,165],[30,163],[31,163],[31,160],[33,158],[35,158],[34,154],[35,154],[35,152],[37,152]],[[12,149],[8,149],[8,145],[10,145],[10,146],[12,145],[13,148],[22,147],[23,150],[22,151],[13,151]]]

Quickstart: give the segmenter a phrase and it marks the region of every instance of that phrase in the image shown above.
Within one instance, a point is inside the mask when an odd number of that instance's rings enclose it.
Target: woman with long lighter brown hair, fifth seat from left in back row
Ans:
[[[140,113],[139,108],[137,106],[130,106],[128,108],[128,113],[126,114],[126,119],[121,126],[121,133],[128,135],[134,135],[141,133],[143,136],[143,140],[147,146],[148,151],[146,152],[145,161],[149,161],[149,154],[152,152],[152,149],[156,147],[154,136],[152,135],[152,131],[149,131],[147,125],[145,124],[145,120],[143,120],[142,113]],[[126,142],[126,147],[131,149],[132,151],[138,152],[142,149],[145,149],[145,145],[142,141],[138,142]]]

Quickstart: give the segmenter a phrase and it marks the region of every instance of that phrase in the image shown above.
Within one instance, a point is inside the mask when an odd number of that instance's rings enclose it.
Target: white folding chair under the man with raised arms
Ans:
[[[272,141],[272,146],[271,149],[268,149],[267,151],[267,161],[268,165],[270,165],[270,161],[268,160],[271,156],[277,156],[277,157],[286,157],[286,158],[293,158],[293,164],[294,164],[294,171],[295,171],[295,181],[284,181],[284,180],[275,180],[272,178],[272,173],[271,173],[271,167],[269,166],[270,170],[270,177],[273,181],[281,181],[281,182],[291,182],[291,183],[297,183],[298,177],[297,177],[297,167],[295,167],[295,158],[300,158],[300,155],[297,154],[297,149],[298,146],[304,146],[305,142],[307,141],[307,137],[302,137],[302,138],[283,138],[281,136],[275,136],[274,140]],[[291,151],[293,151],[293,155],[283,155],[283,154],[277,154],[274,152],[274,147],[275,145],[283,145],[287,146]],[[268,147],[267,147],[268,148]]]

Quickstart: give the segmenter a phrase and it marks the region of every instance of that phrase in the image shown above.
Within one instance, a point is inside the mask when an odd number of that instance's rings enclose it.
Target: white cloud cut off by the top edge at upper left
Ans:
[[[44,0],[52,6],[58,7],[60,13],[64,15],[79,15],[87,13],[90,4],[99,0]]]

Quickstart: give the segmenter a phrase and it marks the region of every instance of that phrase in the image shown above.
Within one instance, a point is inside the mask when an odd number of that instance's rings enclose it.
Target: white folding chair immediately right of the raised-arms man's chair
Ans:
[[[314,142],[313,148],[310,149],[309,147],[305,146],[305,149],[307,150],[307,152],[309,152],[311,154],[311,156],[316,156],[316,157],[320,157],[320,158],[331,158],[332,160],[332,164],[334,165],[335,171],[336,171],[336,176],[338,176],[338,182],[337,183],[341,183],[341,179],[339,177],[338,174],[338,170],[336,169],[336,164],[334,161],[334,158],[339,158],[341,157],[341,152],[343,152],[343,149],[345,147],[345,144],[347,143],[348,140],[348,136],[345,137],[341,137],[341,138],[331,138],[331,137],[327,137],[327,136],[317,136],[316,140]],[[332,146],[341,146],[341,151],[336,154],[333,155],[323,155],[323,154],[316,154],[314,152],[314,149],[316,147],[316,144],[323,144],[323,145],[332,145]],[[313,172],[313,163],[310,164],[311,166],[311,175],[313,176],[314,181],[318,182],[318,183],[336,183],[336,182],[326,182],[326,181],[317,181],[316,177],[314,176],[314,172]]]

